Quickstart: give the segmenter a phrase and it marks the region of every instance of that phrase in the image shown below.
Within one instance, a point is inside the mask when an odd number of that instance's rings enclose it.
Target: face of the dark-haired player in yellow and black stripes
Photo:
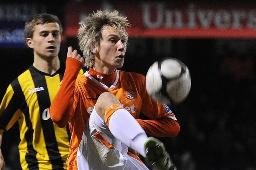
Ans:
[[[34,50],[34,56],[41,58],[54,58],[60,51],[60,25],[58,23],[45,23],[35,25],[32,38],[26,40],[28,47]]]

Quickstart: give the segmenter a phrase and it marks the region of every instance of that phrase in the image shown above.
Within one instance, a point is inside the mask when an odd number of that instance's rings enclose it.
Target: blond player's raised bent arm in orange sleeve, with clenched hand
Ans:
[[[84,59],[68,47],[66,70],[60,84],[60,88],[52,101],[49,109],[50,117],[59,127],[64,127],[71,119],[74,110],[74,89],[77,75],[82,68]]]

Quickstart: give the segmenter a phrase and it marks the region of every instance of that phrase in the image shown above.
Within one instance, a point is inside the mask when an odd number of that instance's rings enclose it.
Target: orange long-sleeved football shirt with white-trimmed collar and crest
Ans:
[[[145,76],[116,70],[116,80],[108,87],[88,71],[83,76],[75,76],[81,67],[82,63],[78,60],[67,57],[62,84],[50,107],[50,116],[55,123],[60,127],[65,123],[70,125],[71,141],[67,160],[69,169],[77,169],[76,154],[86,122],[103,92],[114,94],[147,134],[156,137],[178,134],[180,126],[170,108],[152,100],[147,94]],[[141,113],[152,120],[138,119]]]

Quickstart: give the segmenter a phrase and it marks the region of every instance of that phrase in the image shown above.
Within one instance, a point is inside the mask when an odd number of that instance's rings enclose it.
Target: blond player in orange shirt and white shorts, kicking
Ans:
[[[118,11],[98,10],[80,22],[79,47],[68,47],[66,71],[50,106],[58,126],[70,125],[68,169],[176,169],[161,141],[180,126],[166,104],[146,92],[145,76],[118,70],[124,64],[130,26]],[[82,66],[89,67],[77,77]],[[151,120],[139,119],[140,113]]]

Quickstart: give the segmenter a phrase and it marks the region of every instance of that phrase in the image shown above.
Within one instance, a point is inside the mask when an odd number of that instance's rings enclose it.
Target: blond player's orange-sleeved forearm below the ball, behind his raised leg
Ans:
[[[174,137],[180,132],[180,125],[176,120],[163,117],[157,120],[137,119],[142,129],[155,137]]]

